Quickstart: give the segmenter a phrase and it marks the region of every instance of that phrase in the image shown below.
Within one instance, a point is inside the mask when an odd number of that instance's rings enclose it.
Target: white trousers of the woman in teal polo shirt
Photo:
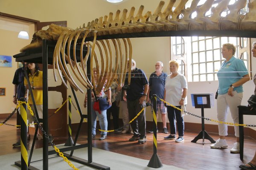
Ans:
[[[227,114],[230,110],[234,124],[239,123],[239,113],[237,106],[241,105],[243,93],[233,91],[233,96],[228,94],[218,95],[217,99],[217,118],[218,121],[227,122]],[[235,136],[239,137],[239,126],[235,126]],[[224,123],[218,124],[220,136],[227,136],[227,125]]]

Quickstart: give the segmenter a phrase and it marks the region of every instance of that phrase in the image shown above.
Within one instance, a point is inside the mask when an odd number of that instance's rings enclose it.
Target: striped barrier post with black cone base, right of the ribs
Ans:
[[[148,167],[153,167],[153,168],[160,168],[163,167],[163,164],[161,160],[159,159],[157,155],[157,95],[153,95],[153,131],[154,131],[154,136],[153,136],[153,147],[154,147],[154,153],[148,163]]]

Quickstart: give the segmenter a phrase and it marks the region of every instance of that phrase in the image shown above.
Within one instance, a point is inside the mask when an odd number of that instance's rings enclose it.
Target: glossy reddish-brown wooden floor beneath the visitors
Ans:
[[[2,122],[3,120],[0,121]],[[16,119],[11,118],[7,123],[15,124]],[[86,129],[83,126],[82,128]],[[17,142],[19,138],[19,131],[16,127],[0,126],[0,155],[20,152],[20,147],[12,147],[12,144]],[[157,154],[161,162],[187,170],[239,170],[239,165],[243,164],[239,159],[239,154],[232,154],[229,151],[235,142],[235,136],[230,135],[227,137],[228,149],[210,149],[208,140],[205,140],[204,145],[201,139],[198,140],[198,143],[190,142],[198,133],[198,131],[185,131],[185,142],[181,143],[176,143],[174,140],[164,140],[163,137],[168,134],[163,134],[161,131],[157,133]],[[218,139],[216,133],[209,133],[209,135],[215,140]],[[150,160],[153,154],[152,133],[147,133],[147,142],[145,144],[128,142],[132,134],[112,132],[108,134],[107,139],[104,141],[99,141],[99,136],[99,131],[97,131],[96,139],[93,139],[93,147],[147,160]],[[33,136],[31,135],[31,137]],[[66,140],[67,138],[54,136],[55,144],[63,144]],[[86,140],[87,135],[81,133],[78,143],[87,143]],[[42,140],[37,140],[35,148],[42,147],[42,143]],[[31,145],[32,139],[28,141],[29,149]],[[255,150],[256,141],[245,136],[244,163],[252,159]]]

